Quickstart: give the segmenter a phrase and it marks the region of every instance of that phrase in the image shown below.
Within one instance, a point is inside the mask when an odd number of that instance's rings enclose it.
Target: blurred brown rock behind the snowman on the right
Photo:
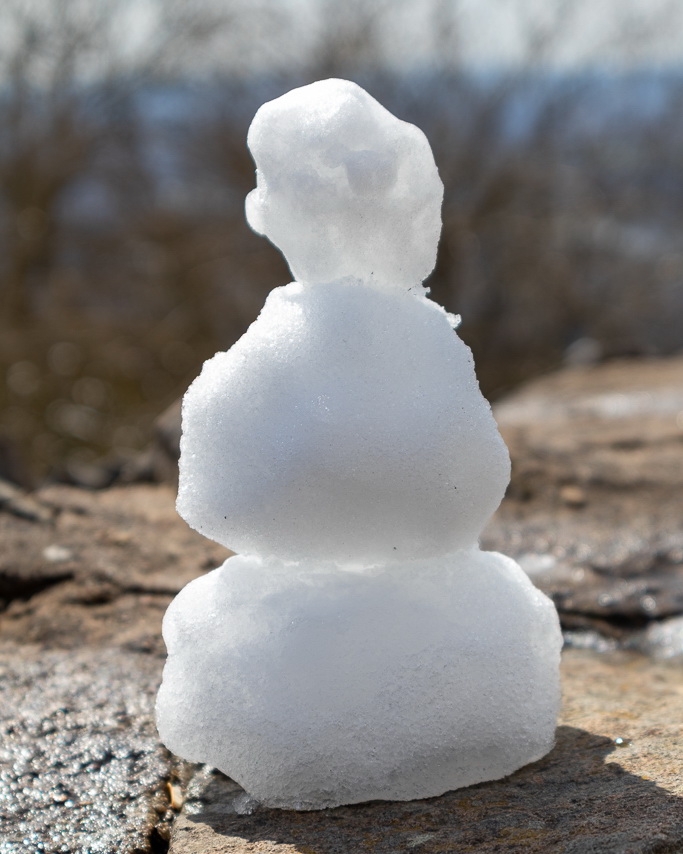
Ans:
[[[648,626],[683,612],[683,358],[565,370],[495,414],[512,482],[484,545],[520,561],[565,629],[647,648]]]

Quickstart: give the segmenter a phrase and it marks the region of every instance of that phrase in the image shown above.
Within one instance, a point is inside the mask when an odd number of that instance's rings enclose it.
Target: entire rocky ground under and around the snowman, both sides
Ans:
[[[683,359],[614,363],[497,407],[513,480],[484,545],[521,560],[574,645],[683,656],[682,390]],[[173,503],[0,482],[0,854],[160,854],[184,797],[176,854],[683,850],[680,658],[567,650],[556,750],[442,798],[240,815],[227,778],[186,787],[152,720],[161,618],[228,552]]]

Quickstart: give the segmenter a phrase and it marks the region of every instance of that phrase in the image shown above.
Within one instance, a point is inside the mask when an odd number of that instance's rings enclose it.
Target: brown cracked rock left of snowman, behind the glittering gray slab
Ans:
[[[0,641],[163,656],[168,603],[230,554],[178,518],[166,486],[53,486],[21,500],[31,513],[0,507]]]

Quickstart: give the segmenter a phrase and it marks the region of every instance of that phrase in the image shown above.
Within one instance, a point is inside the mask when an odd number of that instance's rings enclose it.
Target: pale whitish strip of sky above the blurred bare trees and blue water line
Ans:
[[[97,20],[98,26],[106,23],[111,31],[107,61],[114,50],[122,65],[144,61],[162,30],[162,18],[175,20],[182,33],[189,30],[192,15],[200,22],[223,15],[225,25],[207,26],[207,37],[198,42],[201,49],[186,51],[183,58],[186,70],[199,73],[296,70],[316,51],[324,57],[326,46],[335,39],[357,45],[369,30],[375,35],[369,42],[370,61],[402,71],[449,64],[500,70],[683,68],[683,0],[0,0],[0,4],[0,55],[2,47],[18,44],[12,8],[20,10],[19,17],[39,22],[45,42],[50,42],[69,9],[75,16]],[[93,46],[90,66],[84,62],[83,68],[96,69],[100,53]],[[49,79],[47,58],[43,66],[36,63],[36,73],[42,67]]]

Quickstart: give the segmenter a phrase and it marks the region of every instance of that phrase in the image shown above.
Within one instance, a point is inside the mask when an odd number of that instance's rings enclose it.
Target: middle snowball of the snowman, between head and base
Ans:
[[[373,564],[475,544],[510,460],[431,300],[291,284],[183,402],[178,512],[245,554]]]

